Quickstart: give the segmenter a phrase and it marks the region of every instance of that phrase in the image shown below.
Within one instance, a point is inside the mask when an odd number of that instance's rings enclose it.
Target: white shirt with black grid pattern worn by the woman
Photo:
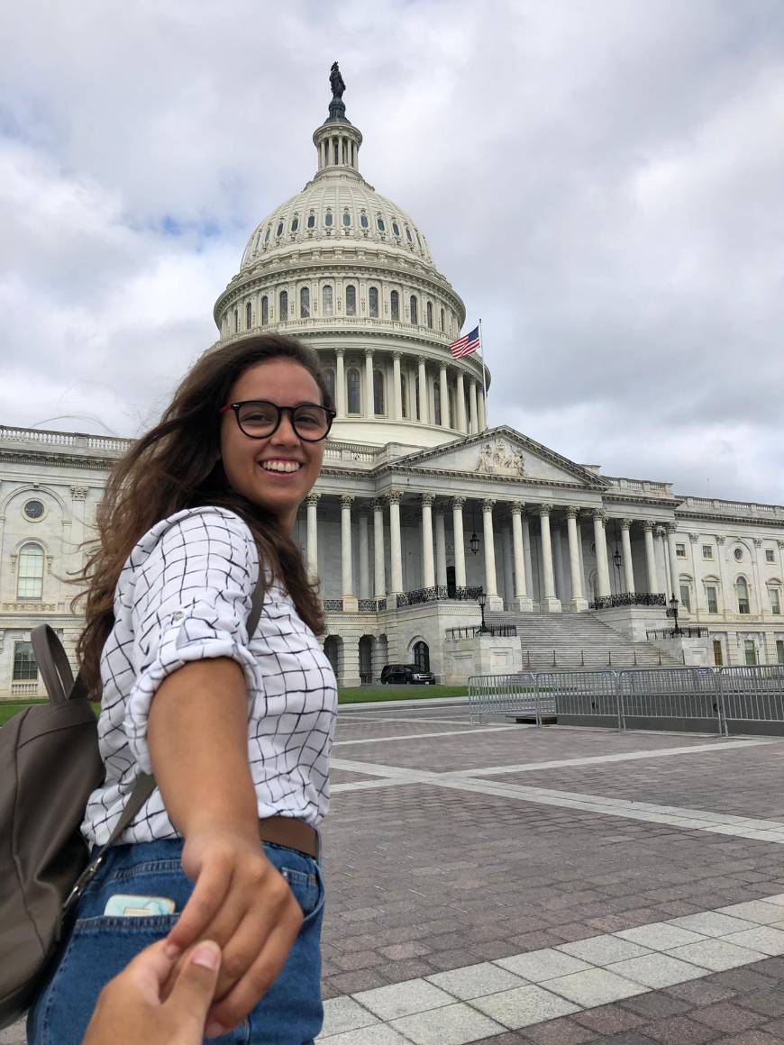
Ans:
[[[245,673],[258,815],[293,816],[312,827],[326,815],[335,673],[277,579],[249,638],[258,570],[251,531],[224,508],[178,512],[153,527],[131,553],[100,660],[98,743],[106,777],[90,796],[82,825],[91,844],[108,841],[139,770],[152,772],[147,716],[158,687],[183,665],[210,657],[231,657]],[[177,837],[156,789],[120,841]]]

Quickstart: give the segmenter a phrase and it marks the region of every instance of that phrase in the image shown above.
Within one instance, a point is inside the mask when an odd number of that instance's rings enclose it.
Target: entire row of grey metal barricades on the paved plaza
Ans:
[[[784,732],[784,665],[652,668],[633,671],[534,671],[468,679],[471,721],[483,715],[544,716],[618,729],[691,723],[729,736],[753,723]]]

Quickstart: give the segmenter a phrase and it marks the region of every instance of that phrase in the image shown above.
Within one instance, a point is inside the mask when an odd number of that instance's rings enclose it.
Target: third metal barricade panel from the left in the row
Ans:
[[[623,728],[628,719],[715,722],[723,734],[718,677],[713,668],[638,669],[619,673]]]

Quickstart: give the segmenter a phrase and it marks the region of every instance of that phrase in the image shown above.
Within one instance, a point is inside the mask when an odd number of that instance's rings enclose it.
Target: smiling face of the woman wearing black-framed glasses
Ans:
[[[278,407],[322,403],[315,378],[294,359],[257,363],[229,391],[228,402],[267,399]],[[297,509],[321,471],[324,442],[305,442],[292,427],[285,413],[280,424],[262,439],[251,439],[237,424],[234,411],[223,415],[221,457],[232,489],[275,515],[291,533]],[[292,468],[284,471],[282,467]],[[274,469],[280,470],[274,470]]]

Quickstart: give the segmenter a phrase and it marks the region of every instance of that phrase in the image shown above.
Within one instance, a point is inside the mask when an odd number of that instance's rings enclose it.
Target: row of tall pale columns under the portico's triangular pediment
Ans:
[[[364,600],[386,599],[403,593],[403,559],[400,527],[401,491],[391,491],[378,497],[361,509],[356,520],[356,538],[359,541],[359,586],[353,576],[353,527],[352,513],[355,497],[352,494],[340,496],[341,517],[341,599],[343,609],[358,609]],[[407,504],[411,504],[411,494],[407,494]],[[466,533],[463,509],[466,497],[437,497],[434,493],[415,494],[420,513],[421,558],[419,586],[422,589],[443,587],[447,583],[448,567],[454,568],[454,586],[466,586]],[[319,575],[318,562],[318,505],[321,494],[313,492],[306,498],[306,561],[310,575]],[[531,519],[538,519],[540,557],[536,563],[539,579],[538,607],[549,612],[559,612],[563,608],[572,611],[587,609],[585,572],[583,562],[583,522],[591,521],[594,545],[596,550],[596,585],[597,599],[608,598],[613,594],[609,574],[609,558],[607,553],[606,513],[599,508],[587,513],[576,505],[558,506],[558,518],[553,519],[556,507],[549,503],[524,504],[520,501],[498,503],[491,497],[481,500],[482,510],[482,552],[483,552],[483,588],[487,596],[489,609],[503,609],[504,600],[499,593],[495,545],[499,533],[495,528],[497,508],[508,509],[511,522],[511,539],[505,533],[505,545],[510,549],[505,561],[510,566],[506,583],[507,603],[509,587],[513,590],[513,608],[526,611],[533,608],[533,578]],[[373,531],[373,565],[370,567],[370,518],[372,510]],[[562,514],[561,514],[562,513]],[[447,532],[446,519],[452,519],[453,562],[447,563]],[[385,515],[388,515],[389,529],[385,526]],[[561,525],[566,517],[568,556],[564,557],[561,540]],[[652,520],[636,520],[622,518],[617,520],[621,533],[622,571],[619,586],[624,595],[635,596],[637,593],[635,568],[631,553],[630,529],[632,525],[642,524],[645,550],[645,582],[644,590],[661,594],[662,584],[659,581],[654,539],[662,542],[662,556],[665,564],[666,594],[677,590],[673,587],[672,578],[677,583],[677,563],[675,561],[675,525],[661,524]],[[557,539],[554,540],[554,536]],[[387,549],[387,540],[389,549]],[[389,587],[387,591],[387,552],[389,551]],[[568,559],[568,561],[567,561]],[[618,561],[618,560],[616,560]],[[571,598],[563,605],[567,590],[567,575]],[[372,576],[372,594],[371,594]],[[359,593],[359,598],[358,598]]]

